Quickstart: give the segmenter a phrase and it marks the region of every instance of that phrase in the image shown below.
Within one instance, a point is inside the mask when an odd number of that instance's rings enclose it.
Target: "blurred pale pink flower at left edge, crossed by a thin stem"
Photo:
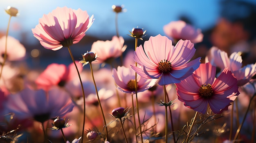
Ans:
[[[4,60],[6,37],[0,38],[0,61]],[[14,37],[7,37],[7,61],[18,61],[24,59],[26,55],[26,48]]]

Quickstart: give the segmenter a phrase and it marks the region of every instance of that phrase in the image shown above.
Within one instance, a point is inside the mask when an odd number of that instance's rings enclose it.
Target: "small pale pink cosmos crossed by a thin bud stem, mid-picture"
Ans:
[[[135,72],[132,68],[118,66],[113,68],[113,77],[117,83],[117,89],[124,93],[135,93]],[[156,79],[144,79],[137,75],[137,92],[145,91],[156,84]]]

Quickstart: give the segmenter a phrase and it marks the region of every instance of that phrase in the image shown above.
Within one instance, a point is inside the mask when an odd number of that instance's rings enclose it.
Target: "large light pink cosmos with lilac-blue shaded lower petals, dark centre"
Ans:
[[[194,53],[189,40],[180,40],[174,47],[166,36],[151,36],[144,48],[136,48],[134,60],[140,67],[131,66],[141,77],[159,79],[161,86],[179,83],[199,67],[200,57],[189,62]]]

